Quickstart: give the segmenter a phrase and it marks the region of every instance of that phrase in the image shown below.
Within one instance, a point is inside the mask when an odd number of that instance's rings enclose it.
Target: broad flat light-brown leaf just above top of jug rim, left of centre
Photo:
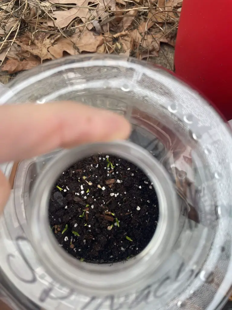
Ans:
[[[97,48],[104,42],[104,38],[101,34],[95,35],[87,29],[81,33],[81,35],[79,35],[79,33],[72,35],[70,39],[75,46],[78,47],[80,53],[82,51],[95,53]]]

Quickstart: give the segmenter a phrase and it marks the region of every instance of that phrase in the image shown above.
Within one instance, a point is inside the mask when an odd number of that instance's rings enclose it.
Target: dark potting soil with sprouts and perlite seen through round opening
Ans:
[[[96,155],[63,172],[51,193],[49,221],[69,254],[110,263],[139,254],[159,217],[156,192],[132,163]]]

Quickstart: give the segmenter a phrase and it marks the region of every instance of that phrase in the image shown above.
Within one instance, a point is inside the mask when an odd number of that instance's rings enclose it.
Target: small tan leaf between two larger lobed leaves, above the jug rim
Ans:
[[[52,46],[48,48],[48,51],[56,59],[63,57],[64,51],[69,55],[79,54],[74,46],[74,43],[67,38],[59,38],[56,42],[53,43]]]

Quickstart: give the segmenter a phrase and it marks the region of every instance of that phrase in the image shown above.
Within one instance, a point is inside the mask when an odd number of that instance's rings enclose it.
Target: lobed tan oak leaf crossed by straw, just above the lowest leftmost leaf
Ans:
[[[32,55],[39,56],[41,61],[45,59],[54,59],[49,53],[48,48],[58,39],[60,34],[50,35],[49,33],[37,32],[32,41],[32,33],[26,32],[16,40],[23,51],[29,51]]]

